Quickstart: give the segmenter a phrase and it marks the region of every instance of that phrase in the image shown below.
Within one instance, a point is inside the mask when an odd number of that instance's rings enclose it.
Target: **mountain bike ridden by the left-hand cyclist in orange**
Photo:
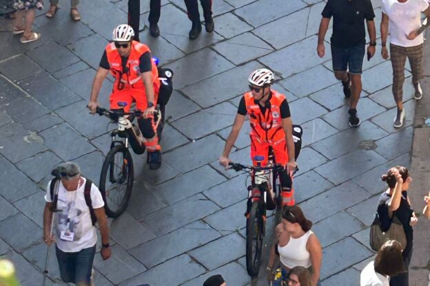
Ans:
[[[118,102],[118,105],[125,107],[127,102]],[[99,184],[103,201],[105,201],[106,214],[108,217],[116,218],[127,208],[134,184],[133,159],[128,147],[131,146],[136,154],[145,152],[143,144],[145,138],[139,126],[132,123],[134,118],[141,116],[143,112],[124,112],[123,109],[107,110],[97,107],[96,113],[105,115],[118,125],[117,129],[111,132],[110,151],[103,162]],[[156,110],[154,122],[156,133],[159,136],[163,131],[161,111]]]

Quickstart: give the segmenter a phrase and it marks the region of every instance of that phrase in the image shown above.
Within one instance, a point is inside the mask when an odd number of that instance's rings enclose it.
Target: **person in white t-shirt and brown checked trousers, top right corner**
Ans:
[[[427,24],[421,25],[421,13],[427,16]],[[382,21],[380,25],[382,58],[389,57],[386,42],[388,29],[390,38],[391,65],[393,66],[393,96],[397,104],[397,115],[393,126],[400,128],[405,120],[403,109],[403,83],[405,62],[409,59],[412,69],[413,98],[422,98],[420,79],[422,77],[422,56],[424,36],[422,32],[430,24],[430,8],[427,0],[382,0]]]

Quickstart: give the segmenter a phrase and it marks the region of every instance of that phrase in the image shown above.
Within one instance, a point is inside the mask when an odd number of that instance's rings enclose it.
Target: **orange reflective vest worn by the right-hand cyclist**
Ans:
[[[285,100],[285,95],[272,90],[272,98],[269,100],[270,108],[266,109],[265,114],[261,113],[258,103],[254,102],[251,91],[244,96],[249,124],[251,124],[249,135],[260,143],[278,144],[285,140],[282,118],[280,118],[280,104]]]

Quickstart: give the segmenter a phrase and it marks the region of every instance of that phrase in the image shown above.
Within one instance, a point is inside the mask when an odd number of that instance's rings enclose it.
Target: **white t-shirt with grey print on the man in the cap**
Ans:
[[[92,248],[97,243],[96,228],[92,225],[90,208],[85,202],[85,181],[77,190],[65,190],[59,181],[57,210],[55,214],[55,239],[57,247],[63,252],[79,252],[84,248]],[[45,201],[52,202],[50,184],[46,189]],[[91,185],[92,208],[105,206],[99,189]]]

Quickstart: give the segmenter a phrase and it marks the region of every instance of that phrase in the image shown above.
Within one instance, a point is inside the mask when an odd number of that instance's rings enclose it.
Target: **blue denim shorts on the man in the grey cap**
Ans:
[[[96,245],[79,252],[63,252],[56,248],[61,281],[76,285],[90,285],[92,262],[96,254]]]

